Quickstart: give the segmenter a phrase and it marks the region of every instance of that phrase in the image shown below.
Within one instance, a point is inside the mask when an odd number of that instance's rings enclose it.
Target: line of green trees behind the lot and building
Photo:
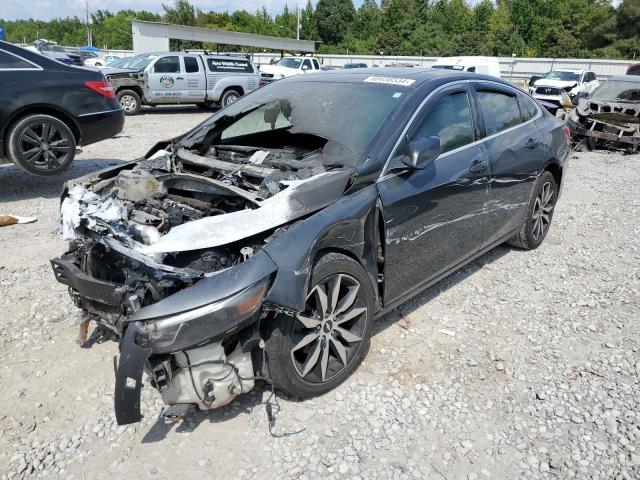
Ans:
[[[188,0],[162,7],[162,14],[94,12],[93,44],[131,49],[134,19],[289,38],[297,34],[297,14],[288,6],[276,15],[264,7],[255,13],[204,12]],[[78,17],[0,19],[0,25],[9,42],[29,43],[37,38],[72,46],[87,42],[86,25]],[[357,9],[352,0],[318,0],[315,8],[307,0],[300,11],[299,35],[320,40],[321,53],[632,59],[640,57],[640,0],[623,0],[617,6],[611,0],[482,0],[474,5],[465,0],[364,0]]]

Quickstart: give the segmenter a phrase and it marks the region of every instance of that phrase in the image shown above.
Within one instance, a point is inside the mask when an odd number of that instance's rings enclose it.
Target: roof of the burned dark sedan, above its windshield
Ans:
[[[511,83],[490,75],[482,75],[479,73],[463,72],[460,70],[444,70],[436,68],[353,68],[329,70],[321,73],[313,73],[311,75],[294,75],[292,77],[278,80],[278,82],[341,82],[341,83],[360,83],[368,77],[398,78],[414,80],[410,87],[417,88],[426,83],[443,84],[456,80],[475,80],[489,81],[501,83],[513,88],[517,88]],[[382,82],[381,82],[382,83]]]

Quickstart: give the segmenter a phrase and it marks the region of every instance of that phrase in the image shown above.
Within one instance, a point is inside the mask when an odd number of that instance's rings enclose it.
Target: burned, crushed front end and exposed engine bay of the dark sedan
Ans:
[[[171,406],[216,408],[253,387],[248,325],[266,315],[277,270],[261,249],[341,198],[354,175],[331,163],[336,146],[325,139],[269,133],[267,147],[252,145],[261,134],[243,145],[172,144],[67,184],[70,249],[51,263],[84,312],[84,346],[120,342],[118,423],[141,418],[143,371]]]

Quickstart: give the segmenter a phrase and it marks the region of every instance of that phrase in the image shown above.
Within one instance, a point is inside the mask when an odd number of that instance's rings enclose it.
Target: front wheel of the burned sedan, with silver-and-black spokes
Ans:
[[[268,328],[265,345],[274,386],[301,399],[334,389],[360,365],[369,350],[375,306],[367,273],[346,255],[329,253],[320,258],[310,284],[305,311],[296,318],[277,315]],[[339,295],[333,309],[336,285]],[[336,311],[337,317],[331,312],[324,321],[319,320],[319,290],[327,292],[327,312]],[[342,311],[341,305],[346,305]],[[336,319],[340,323],[335,323]]]

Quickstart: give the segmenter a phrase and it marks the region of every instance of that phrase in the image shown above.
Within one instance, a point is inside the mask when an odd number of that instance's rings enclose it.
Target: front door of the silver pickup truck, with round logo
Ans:
[[[151,103],[179,103],[186,95],[187,82],[178,55],[158,58],[149,67]]]

